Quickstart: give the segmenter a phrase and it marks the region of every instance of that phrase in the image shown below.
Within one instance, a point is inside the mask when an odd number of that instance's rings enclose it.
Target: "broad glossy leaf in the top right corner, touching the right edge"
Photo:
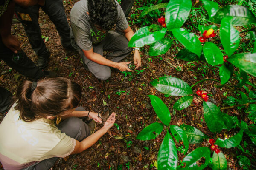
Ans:
[[[233,26],[244,26],[251,23],[256,23],[256,17],[253,13],[244,6],[229,5],[219,9],[215,16],[212,17],[212,21],[220,24],[224,17],[232,17]]]

